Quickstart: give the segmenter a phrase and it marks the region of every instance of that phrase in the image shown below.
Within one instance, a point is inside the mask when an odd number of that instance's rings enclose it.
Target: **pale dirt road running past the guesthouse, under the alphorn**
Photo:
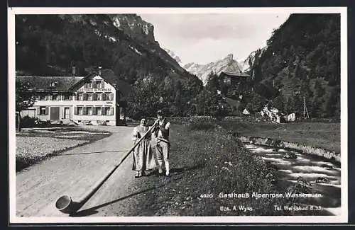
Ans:
[[[78,200],[97,180],[111,171],[115,163],[121,161],[131,149],[133,127],[99,129],[113,134],[65,151],[16,174],[17,217],[67,217],[55,208],[58,197],[70,195],[72,200]],[[144,192],[138,186],[139,179],[133,178],[131,161],[130,155],[79,210],[78,216],[129,215],[131,207],[136,205],[134,195]]]

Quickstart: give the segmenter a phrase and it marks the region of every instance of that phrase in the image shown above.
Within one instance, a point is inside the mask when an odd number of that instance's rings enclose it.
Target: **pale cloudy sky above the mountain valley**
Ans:
[[[290,13],[138,13],[154,25],[160,47],[173,51],[183,64],[207,64],[233,54],[246,59],[266,46],[274,29]]]

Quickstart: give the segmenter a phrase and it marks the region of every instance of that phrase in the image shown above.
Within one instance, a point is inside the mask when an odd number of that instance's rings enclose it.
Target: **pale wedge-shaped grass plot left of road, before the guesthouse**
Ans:
[[[16,133],[16,172],[84,144],[95,142],[111,133],[77,127],[30,129]]]

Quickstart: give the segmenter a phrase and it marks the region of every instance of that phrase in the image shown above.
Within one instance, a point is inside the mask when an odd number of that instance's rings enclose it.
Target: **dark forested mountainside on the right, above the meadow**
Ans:
[[[305,100],[310,117],[339,117],[339,14],[292,14],[273,31],[266,48],[253,52],[249,64],[254,86],[279,91],[270,101],[258,92],[263,103],[303,116]],[[255,100],[252,94],[246,100]]]

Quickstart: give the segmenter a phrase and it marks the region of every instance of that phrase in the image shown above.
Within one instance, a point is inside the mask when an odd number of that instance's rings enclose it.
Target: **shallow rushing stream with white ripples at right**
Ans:
[[[329,214],[341,212],[340,164],[311,154],[302,154],[293,149],[278,149],[272,146],[244,143],[251,153],[272,163],[278,169],[278,178],[283,183],[301,183],[310,193],[322,197],[307,197],[309,205],[319,205]]]

